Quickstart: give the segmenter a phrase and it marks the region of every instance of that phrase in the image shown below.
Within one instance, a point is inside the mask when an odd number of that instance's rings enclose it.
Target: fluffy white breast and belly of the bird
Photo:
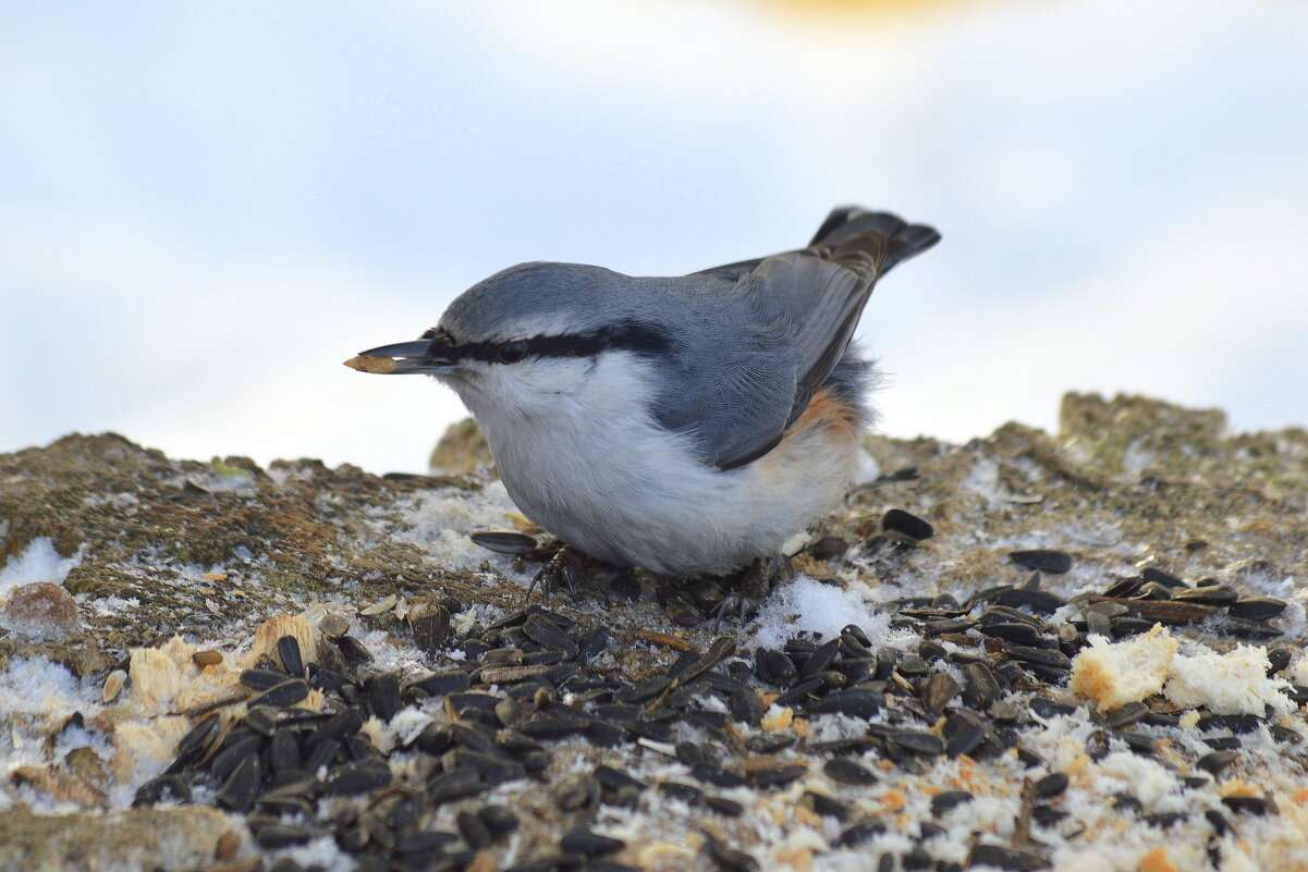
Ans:
[[[655,573],[727,573],[776,553],[845,493],[853,444],[814,431],[721,472],[650,418],[638,357],[611,352],[591,366],[578,390],[544,403],[464,396],[509,495],[565,543]]]

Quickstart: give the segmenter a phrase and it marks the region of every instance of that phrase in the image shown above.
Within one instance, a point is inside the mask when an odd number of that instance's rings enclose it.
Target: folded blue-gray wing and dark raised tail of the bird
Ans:
[[[659,421],[689,433],[721,469],[761,458],[849,348],[876,278],[938,239],[930,227],[850,207],[802,251],[696,273],[721,295],[692,331]]]

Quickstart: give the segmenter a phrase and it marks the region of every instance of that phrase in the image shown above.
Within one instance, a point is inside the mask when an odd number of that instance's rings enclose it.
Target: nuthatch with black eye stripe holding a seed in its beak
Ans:
[[[841,207],[803,248],[684,276],[523,263],[345,363],[453,388],[509,497],[565,545],[725,575],[848,493],[874,421],[854,329],[876,281],[939,239]]]

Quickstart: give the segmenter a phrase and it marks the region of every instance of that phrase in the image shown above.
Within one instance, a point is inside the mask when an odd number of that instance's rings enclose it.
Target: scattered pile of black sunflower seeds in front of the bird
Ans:
[[[892,510],[878,545],[912,546],[930,535],[925,520]],[[840,545],[820,540],[812,549],[838,553]],[[977,839],[965,860],[937,859],[931,843],[948,830],[922,820],[906,833],[904,850],[882,852],[867,868],[1045,868],[1049,854],[1040,837],[1066,824],[1058,800],[1069,775],[1052,770],[1025,745],[1024,733],[1076,710],[1058,692],[1087,637],[1120,639],[1155,622],[1206,622],[1266,642],[1279,635],[1266,621],[1286,604],[1241,596],[1223,584],[1190,586],[1147,569],[1083,597],[1078,618],[1052,622],[1067,603],[1041,590],[1042,574],[1067,571],[1071,558],[1056,550],[1012,552],[1008,558],[1032,573],[1025,583],[981,590],[961,603],[938,596],[883,604],[892,628],[921,635],[913,650],[879,646],[857,625],[827,641],[798,635],[780,650],[748,654],[738,651],[732,635],[696,650],[650,634],[672,650],[687,650],[640,680],[613,667],[611,658],[598,665],[615,643],[603,625],[539,605],[462,637],[449,633],[449,613],[460,604],[441,607],[441,630],[425,641],[439,641],[460,659],[421,675],[373,668],[373,654],[345,634],[348,621],[328,614],[319,633],[330,656],[305,663],[296,639],[284,637],[276,658],[242,673],[249,689],[245,714],[233,718],[221,706],[198,713],[173,763],[141,786],[136,804],[213,803],[243,814],[266,852],[247,862],[251,869],[305,868],[285,848],[326,834],[360,869],[493,872],[504,868],[501,859],[523,825],[522,812],[502,801],[504,790],[535,791],[549,797],[564,824],[548,848],[530,856],[514,848],[506,872],[621,872],[637,868],[612,859],[628,845],[591,829],[604,807],[640,809],[651,796],[664,796],[706,820],[726,821],[748,811],[740,788],[777,794],[820,770],[836,790],[806,790],[795,801],[808,820],[835,828],[832,846],[857,847],[895,826],[888,816],[870,814],[852,801],[859,791],[884,788],[887,773],[929,777],[942,760],[984,762],[1016,754],[1029,777],[1010,842]],[[420,624],[415,633],[424,633]],[[1269,650],[1273,672],[1290,659],[1286,647]],[[296,707],[311,690],[324,694],[322,710]],[[1308,688],[1292,686],[1291,698],[1308,701]],[[383,753],[365,724],[391,723],[409,707],[434,716]],[[798,728],[827,715],[863,726],[838,739],[815,739],[811,729]],[[1175,707],[1152,702],[1095,716],[1099,728],[1086,743],[1091,760],[1122,748],[1155,758],[1158,729],[1180,728]],[[1266,728],[1287,748],[1304,749],[1300,729],[1269,718],[1205,713],[1193,728],[1209,748],[1192,761],[1197,774],[1185,779],[1194,790],[1213,787],[1239,760],[1240,736],[1250,731]],[[578,741],[608,762],[561,770],[556,749]],[[641,753],[675,758],[684,777],[633,775],[621,761]],[[493,792],[500,801],[488,799]],[[948,816],[974,799],[968,790],[939,790],[930,799],[930,816]],[[1122,816],[1164,830],[1186,817],[1152,812],[1129,792],[1110,801]],[[1202,812],[1213,833],[1214,864],[1220,837],[1239,818],[1278,812],[1264,796],[1220,801],[1222,808]],[[710,828],[700,835],[697,863],[704,868],[761,868],[747,847]]]

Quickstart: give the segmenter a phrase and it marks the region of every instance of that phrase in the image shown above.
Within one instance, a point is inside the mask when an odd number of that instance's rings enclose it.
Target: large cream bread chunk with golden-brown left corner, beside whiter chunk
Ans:
[[[1160,624],[1126,642],[1092,637],[1090,647],[1073,660],[1071,689],[1101,711],[1139,702],[1163,689],[1176,647],[1176,639]]]

